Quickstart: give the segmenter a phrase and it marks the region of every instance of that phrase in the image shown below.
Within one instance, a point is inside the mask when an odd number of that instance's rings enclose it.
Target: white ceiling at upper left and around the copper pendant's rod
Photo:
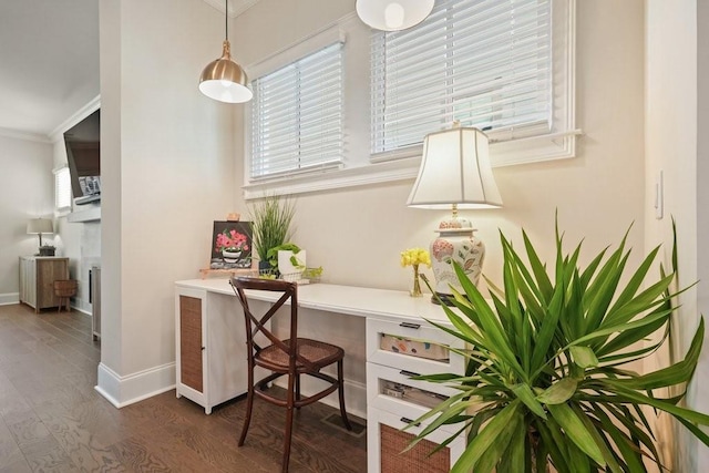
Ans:
[[[47,138],[99,94],[99,0],[0,0],[0,134]]]

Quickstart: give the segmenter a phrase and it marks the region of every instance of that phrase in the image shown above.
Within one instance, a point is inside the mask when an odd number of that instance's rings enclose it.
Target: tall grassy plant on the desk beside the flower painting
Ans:
[[[288,197],[270,195],[253,204],[249,213],[259,269],[268,269],[268,250],[290,238],[290,224],[296,213],[295,203]]]

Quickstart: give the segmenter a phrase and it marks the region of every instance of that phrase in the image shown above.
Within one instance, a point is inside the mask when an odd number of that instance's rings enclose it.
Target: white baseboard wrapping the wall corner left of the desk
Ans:
[[[95,390],[119,409],[171,389],[175,389],[175,363],[127,376],[120,376],[105,364],[99,363],[99,383]]]

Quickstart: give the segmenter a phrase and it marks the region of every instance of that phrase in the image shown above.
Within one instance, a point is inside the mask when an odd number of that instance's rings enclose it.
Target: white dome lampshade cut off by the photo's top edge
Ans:
[[[357,0],[359,18],[383,31],[415,27],[431,13],[434,0]]]

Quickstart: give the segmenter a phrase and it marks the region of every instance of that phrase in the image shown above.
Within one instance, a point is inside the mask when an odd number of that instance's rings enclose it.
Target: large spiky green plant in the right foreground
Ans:
[[[671,271],[660,265],[659,278],[648,282],[659,247],[626,275],[627,236],[580,267],[580,245],[565,254],[557,227],[551,268],[522,236],[526,263],[501,235],[503,287],[489,281],[491,302],[455,266],[464,294],[455,292],[454,308],[442,306],[454,329],[436,326],[470,347],[460,351],[466,372],[418,377],[460,392],[414,421],[431,423],[412,445],[442,424],[459,424],[467,444],[456,473],[549,465],[561,473],[644,472],[644,459],[662,470],[644,408],[669,413],[709,445],[698,428],[709,425],[709,415],[678,405],[697,367],[703,319],[684,360],[647,374],[627,367],[669,336],[679,294],[672,290],[676,244]],[[670,387],[682,392],[656,391]]]

